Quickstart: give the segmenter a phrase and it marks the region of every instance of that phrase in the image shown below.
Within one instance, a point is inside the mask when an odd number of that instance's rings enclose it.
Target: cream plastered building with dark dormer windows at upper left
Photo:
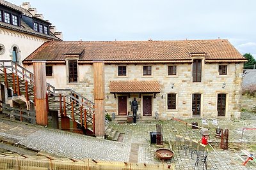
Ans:
[[[61,39],[62,33],[30,3],[17,6],[0,0],[0,60],[22,64],[45,41]]]

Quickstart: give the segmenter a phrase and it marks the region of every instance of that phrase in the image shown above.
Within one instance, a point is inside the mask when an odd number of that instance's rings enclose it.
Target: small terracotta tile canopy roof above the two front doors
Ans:
[[[147,93],[160,92],[158,81],[110,81],[111,93]]]

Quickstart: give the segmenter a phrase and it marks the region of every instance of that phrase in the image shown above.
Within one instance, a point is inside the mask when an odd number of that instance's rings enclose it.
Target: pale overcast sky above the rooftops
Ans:
[[[7,0],[20,5],[24,0]],[[26,0],[25,0],[26,1]],[[65,41],[228,39],[256,58],[255,0],[30,0]]]

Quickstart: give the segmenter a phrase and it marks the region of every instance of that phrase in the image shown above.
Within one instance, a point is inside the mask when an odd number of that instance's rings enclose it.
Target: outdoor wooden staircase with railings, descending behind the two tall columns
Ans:
[[[12,60],[0,60],[0,81],[8,89],[8,96],[26,99],[28,110],[35,104],[34,75]],[[55,89],[47,83],[47,110],[58,111],[62,118],[73,122],[73,129],[95,134],[94,103],[71,89]],[[61,122],[62,123],[62,122]]]

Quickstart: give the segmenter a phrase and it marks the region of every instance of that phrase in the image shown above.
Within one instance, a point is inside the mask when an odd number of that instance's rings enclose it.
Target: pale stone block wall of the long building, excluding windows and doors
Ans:
[[[192,94],[201,94],[201,116],[200,118],[217,117],[217,96],[227,94],[226,116],[219,118],[239,118],[241,110],[241,82],[243,64],[228,64],[228,74],[219,75],[219,64],[202,62],[202,82],[195,83],[192,80],[192,64],[177,64],[177,75],[168,76],[168,64],[150,64],[152,76],[143,76],[144,64],[105,64],[105,103],[108,113],[118,115],[118,96],[127,96],[127,111],[131,111],[130,102],[134,97],[139,101],[138,113],[142,112],[142,96],[152,96],[152,117],[159,113],[159,118],[168,119],[174,115],[177,118],[192,117]],[[127,66],[127,76],[118,76],[118,66]],[[93,66],[84,64],[79,66],[79,83],[67,83],[67,67],[53,65],[53,78],[47,81],[56,88],[71,88],[81,93],[84,97],[93,101]],[[109,93],[109,82],[118,80],[157,80],[160,83],[161,92],[156,94],[116,95]],[[174,86],[172,88],[172,84]],[[177,109],[168,110],[167,94],[177,94]],[[142,115],[142,113],[141,113]]]

